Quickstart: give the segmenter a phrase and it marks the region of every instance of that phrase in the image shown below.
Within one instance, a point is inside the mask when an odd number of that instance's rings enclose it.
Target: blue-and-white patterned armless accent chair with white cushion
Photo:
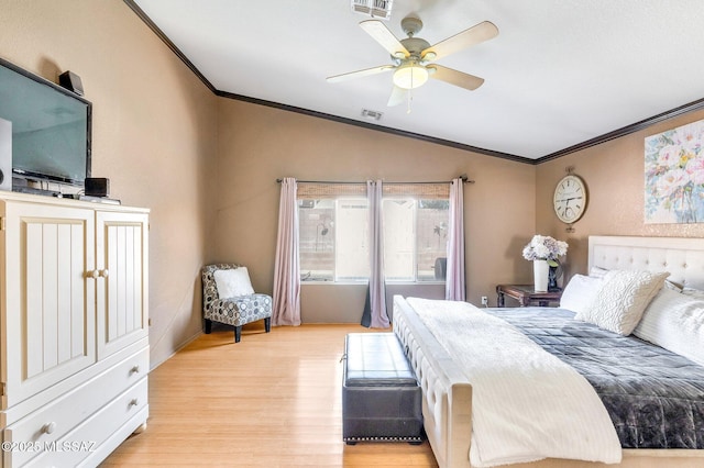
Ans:
[[[234,326],[234,343],[240,343],[242,325],[264,320],[272,330],[272,297],[252,289],[246,267],[235,264],[206,265],[202,268],[202,312],[205,332],[212,322]]]

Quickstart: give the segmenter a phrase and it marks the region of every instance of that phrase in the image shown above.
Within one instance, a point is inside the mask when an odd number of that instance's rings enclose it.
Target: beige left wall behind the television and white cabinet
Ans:
[[[199,269],[212,226],[216,97],[121,1],[0,0],[0,56],[94,104],[92,174],[151,209],[152,365],[201,328]]]

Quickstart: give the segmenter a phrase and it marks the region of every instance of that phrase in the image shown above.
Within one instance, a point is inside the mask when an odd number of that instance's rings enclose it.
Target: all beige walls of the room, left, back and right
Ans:
[[[530,282],[520,256],[536,232],[570,243],[570,271],[586,267],[590,234],[703,236],[704,226],[642,223],[642,138],[704,112],[538,166],[217,98],[121,1],[0,0],[0,56],[55,81],[70,69],[94,103],[94,175],[111,196],[151,214],[152,360],[200,332],[199,269],[250,266],[271,292],[279,187],[276,178],[449,180],[465,185],[469,300],[501,282]],[[551,208],[554,185],[574,166],[591,203],[573,234]],[[329,286],[330,288],[344,288]],[[316,321],[356,321],[359,288],[306,291]],[[334,291],[334,290],[333,290]],[[330,304],[327,297],[344,297]],[[356,302],[355,302],[356,301]],[[344,303],[353,304],[349,311]]]

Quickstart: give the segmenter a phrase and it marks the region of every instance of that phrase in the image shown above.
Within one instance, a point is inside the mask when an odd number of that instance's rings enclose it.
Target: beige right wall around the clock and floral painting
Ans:
[[[538,165],[537,230],[570,244],[568,275],[586,271],[590,235],[704,236],[704,224],[644,223],[644,138],[701,119],[704,119],[704,111],[691,112]],[[569,166],[573,166],[574,172],[584,179],[590,196],[586,212],[574,224],[574,233],[565,232],[565,225],[558,221],[552,210],[554,187]]]

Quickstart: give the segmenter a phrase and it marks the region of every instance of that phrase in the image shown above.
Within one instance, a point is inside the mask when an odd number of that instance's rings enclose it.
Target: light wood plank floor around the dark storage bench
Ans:
[[[150,375],[150,420],[101,467],[437,467],[428,442],[342,442],[340,358],[359,325],[215,327]],[[378,331],[376,331],[378,332]]]

